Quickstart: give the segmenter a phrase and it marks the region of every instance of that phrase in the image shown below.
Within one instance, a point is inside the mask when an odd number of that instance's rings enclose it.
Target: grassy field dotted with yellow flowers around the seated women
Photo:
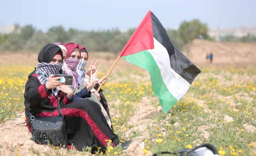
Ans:
[[[112,64],[112,61],[105,62]],[[19,118],[17,112],[24,112],[24,84],[34,68],[7,64],[0,67],[1,124]],[[104,61],[102,64],[104,66]],[[126,152],[108,147],[106,155],[151,155],[202,143],[213,144],[220,155],[256,155],[256,70],[253,66],[201,67],[202,73],[189,91],[167,114],[162,112],[152,91],[149,74],[133,65],[120,66],[103,86],[103,93],[115,133],[134,142]],[[100,76],[107,69],[103,69]],[[0,145],[1,148],[5,145]],[[14,146],[9,153],[88,155],[86,151],[57,148],[24,150],[22,146]],[[95,155],[102,153],[99,150]]]

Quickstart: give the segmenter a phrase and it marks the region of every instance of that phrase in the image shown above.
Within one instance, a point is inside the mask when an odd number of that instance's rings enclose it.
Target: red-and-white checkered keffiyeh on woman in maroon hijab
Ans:
[[[64,70],[64,74],[73,75],[72,85],[69,85],[71,89],[77,88],[77,79],[78,73],[76,72],[76,66],[79,63],[79,59],[77,58],[66,58],[66,61],[63,63],[62,69]]]

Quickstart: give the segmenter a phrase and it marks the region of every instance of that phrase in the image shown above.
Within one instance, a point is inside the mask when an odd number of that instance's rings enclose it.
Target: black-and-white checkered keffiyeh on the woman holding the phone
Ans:
[[[62,65],[59,63],[38,63],[36,74],[41,84],[45,84],[51,74],[59,74]],[[52,89],[53,94],[57,96],[59,87]]]

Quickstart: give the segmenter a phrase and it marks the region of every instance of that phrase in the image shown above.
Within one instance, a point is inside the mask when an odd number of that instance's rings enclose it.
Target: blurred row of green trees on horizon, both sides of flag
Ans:
[[[16,25],[14,32],[0,34],[0,51],[39,51],[47,43],[74,42],[85,46],[89,51],[110,51],[119,53],[132,36],[134,29],[125,32],[115,28],[112,30],[79,31],[73,28],[65,30],[63,26],[50,28],[47,32],[37,30],[32,25],[20,27]],[[207,36],[208,27],[199,20],[184,21],[179,30],[167,29],[171,41],[178,47],[198,38]]]

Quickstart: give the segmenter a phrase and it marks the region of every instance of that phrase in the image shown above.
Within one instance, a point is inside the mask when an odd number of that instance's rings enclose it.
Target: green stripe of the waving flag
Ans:
[[[160,69],[153,56],[147,50],[143,50],[122,57],[127,62],[135,64],[149,72],[153,91],[160,100],[163,112],[167,113],[178,100],[167,89],[162,79]]]

